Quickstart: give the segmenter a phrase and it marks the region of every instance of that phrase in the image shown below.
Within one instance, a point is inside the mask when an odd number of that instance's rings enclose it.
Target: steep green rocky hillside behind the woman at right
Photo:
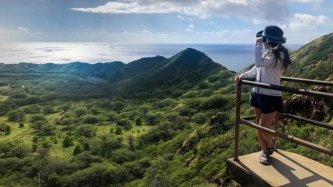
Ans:
[[[293,51],[291,60],[293,65],[284,75],[311,80],[333,81],[333,33],[318,37]],[[296,83],[285,83],[284,85],[333,93],[332,87]],[[333,116],[333,101],[294,94],[286,100],[285,112],[289,114],[297,113],[317,121],[330,122]]]

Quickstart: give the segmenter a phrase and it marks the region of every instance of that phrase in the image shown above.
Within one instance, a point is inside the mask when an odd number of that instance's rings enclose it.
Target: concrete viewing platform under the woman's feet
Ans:
[[[228,159],[227,174],[241,186],[333,186],[333,168],[299,154],[278,150],[264,165],[261,152]]]

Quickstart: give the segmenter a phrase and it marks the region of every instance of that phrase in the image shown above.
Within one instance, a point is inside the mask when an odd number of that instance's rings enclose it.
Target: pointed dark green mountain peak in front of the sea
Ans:
[[[213,62],[210,57],[194,48],[187,48],[169,59],[156,63],[147,71],[133,76],[129,80],[116,83],[116,87],[124,88],[130,93],[143,90],[154,91],[158,87],[182,87],[183,84],[195,84],[205,79],[208,75],[214,75],[225,71],[226,76],[233,75],[221,64]],[[177,86],[178,85],[178,86]]]

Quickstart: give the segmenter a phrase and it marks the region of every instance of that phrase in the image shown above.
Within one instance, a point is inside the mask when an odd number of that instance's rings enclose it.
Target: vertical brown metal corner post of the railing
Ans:
[[[239,120],[241,118],[241,81],[236,89],[236,119],[234,121],[234,161],[239,161]]]

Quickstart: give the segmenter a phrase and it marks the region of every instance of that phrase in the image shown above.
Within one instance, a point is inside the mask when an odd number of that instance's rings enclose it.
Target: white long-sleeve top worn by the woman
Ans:
[[[280,56],[283,60],[284,54],[281,52]],[[275,66],[275,56],[273,54],[262,55],[262,45],[255,45],[255,66],[250,71],[242,73],[241,78],[256,78],[255,82],[263,82],[267,84],[280,85],[282,75],[282,62],[278,60]],[[254,87],[255,92],[258,94],[265,94],[269,96],[281,96],[281,91],[273,89],[265,89],[261,87]]]

